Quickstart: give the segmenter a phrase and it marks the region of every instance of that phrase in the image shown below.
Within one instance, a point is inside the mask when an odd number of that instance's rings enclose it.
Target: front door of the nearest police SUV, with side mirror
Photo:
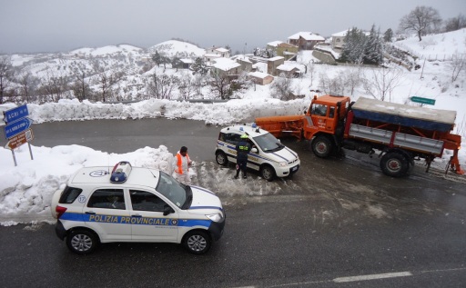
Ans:
[[[136,189],[130,189],[129,194],[132,239],[147,242],[176,242],[177,212],[164,216],[164,210],[169,205],[157,194]]]

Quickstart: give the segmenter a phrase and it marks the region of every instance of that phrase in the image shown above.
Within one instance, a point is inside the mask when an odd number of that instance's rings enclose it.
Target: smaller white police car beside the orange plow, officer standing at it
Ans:
[[[298,172],[298,154],[256,124],[233,125],[220,131],[215,150],[218,164],[227,165],[228,161],[236,163],[236,144],[242,134],[248,135],[252,145],[247,166],[258,171],[264,179],[272,181],[276,176],[286,177]]]

